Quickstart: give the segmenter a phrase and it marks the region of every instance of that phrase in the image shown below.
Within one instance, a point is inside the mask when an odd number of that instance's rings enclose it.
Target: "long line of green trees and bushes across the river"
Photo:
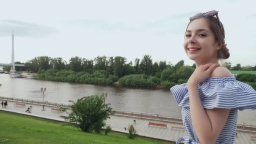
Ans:
[[[153,62],[149,55],[130,62],[122,56],[97,56],[93,60],[75,56],[68,63],[60,57],[38,56],[26,63],[16,63],[25,64],[25,67],[16,67],[17,71],[37,72],[37,78],[43,80],[105,85],[118,80],[121,85],[148,88],[157,85],[169,88],[185,83],[195,70],[195,64],[186,66],[183,60],[173,65],[166,61]],[[225,62],[223,66],[230,70],[256,70],[256,66],[242,67],[241,64],[231,67],[230,62]],[[10,66],[3,69],[6,71],[10,69]],[[256,83],[253,74],[240,74],[237,78],[250,85]]]

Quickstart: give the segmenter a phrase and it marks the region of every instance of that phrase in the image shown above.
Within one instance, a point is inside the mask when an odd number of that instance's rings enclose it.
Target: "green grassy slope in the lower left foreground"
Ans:
[[[124,133],[85,133],[68,123],[0,110],[0,144],[172,144]],[[174,144],[174,143],[173,143]]]

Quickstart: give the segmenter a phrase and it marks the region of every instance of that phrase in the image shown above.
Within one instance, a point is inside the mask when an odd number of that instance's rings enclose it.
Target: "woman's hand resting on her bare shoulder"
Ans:
[[[193,74],[189,77],[189,80],[187,81],[188,85],[197,85],[198,83],[204,81],[206,78],[210,77],[211,72],[216,67],[219,67],[220,64],[204,64],[200,67],[197,67]]]

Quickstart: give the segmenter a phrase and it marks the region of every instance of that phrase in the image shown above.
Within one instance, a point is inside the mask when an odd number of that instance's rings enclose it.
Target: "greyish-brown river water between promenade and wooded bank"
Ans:
[[[71,104],[83,96],[108,93],[106,103],[117,111],[143,112],[181,118],[181,108],[169,90],[127,88],[122,86],[88,85],[52,82],[28,78],[11,78],[0,74],[0,96],[43,101],[40,88],[46,88],[45,101]],[[256,111],[238,113],[238,123],[256,125]]]

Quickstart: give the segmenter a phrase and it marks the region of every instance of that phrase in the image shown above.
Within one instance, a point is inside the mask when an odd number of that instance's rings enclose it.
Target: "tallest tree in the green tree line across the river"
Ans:
[[[149,55],[144,55],[143,59],[141,60],[141,71],[146,74],[146,75],[151,75],[152,74],[152,59],[151,56]]]

